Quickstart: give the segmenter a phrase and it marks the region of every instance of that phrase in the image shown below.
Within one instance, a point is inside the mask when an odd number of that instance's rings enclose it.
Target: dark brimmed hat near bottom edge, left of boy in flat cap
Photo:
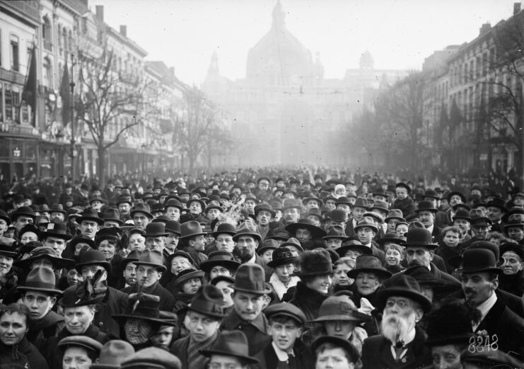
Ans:
[[[246,363],[258,363],[256,358],[249,356],[248,339],[242,331],[222,331],[220,339],[209,350],[201,350],[200,353],[208,358],[212,355],[234,356]]]

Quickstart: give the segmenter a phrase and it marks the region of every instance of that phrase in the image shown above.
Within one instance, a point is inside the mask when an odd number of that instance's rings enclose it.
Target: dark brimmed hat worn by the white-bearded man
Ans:
[[[385,307],[385,302],[390,296],[407,297],[418,302],[424,312],[429,312],[432,307],[431,301],[422,293],[417,280],[404,273],[397,273],[384,280],[383,287],[377,291],[377,302],[380,309]]]

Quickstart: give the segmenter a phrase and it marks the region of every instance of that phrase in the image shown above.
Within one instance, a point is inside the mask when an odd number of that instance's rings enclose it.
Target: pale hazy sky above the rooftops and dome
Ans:
[[[342,78],[369,50],[377,69],[421,69],[446,45],[473,40],[482,23],[513,14],[516,0],[280,0],[286,26],[326,78]],[[163,60],[188,84],[201,84],[211,54],[230,79],[245,76],[248,51],[267,33],[276,0],[91,0],[105,21]]]

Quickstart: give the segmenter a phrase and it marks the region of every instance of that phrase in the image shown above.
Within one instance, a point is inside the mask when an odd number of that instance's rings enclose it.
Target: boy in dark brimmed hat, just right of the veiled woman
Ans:
[[[170,351],[180,358],[182,369],[205,369],[207,358],[200,350],[210,348],[219,339],[224,317],[221,291],[214,285],[203,285],[187,310],[185,327],[189,335],[175,341]]]

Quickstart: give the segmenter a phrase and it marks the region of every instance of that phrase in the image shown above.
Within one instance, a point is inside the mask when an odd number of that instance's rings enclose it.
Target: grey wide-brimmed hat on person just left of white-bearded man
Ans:
[[[320,305],[318,318],[313,322],[327,322],[330,320],[347,320],[352,322],[368,322],[371,315],[356,310],[355,303],[348,295],[327,297]]]

